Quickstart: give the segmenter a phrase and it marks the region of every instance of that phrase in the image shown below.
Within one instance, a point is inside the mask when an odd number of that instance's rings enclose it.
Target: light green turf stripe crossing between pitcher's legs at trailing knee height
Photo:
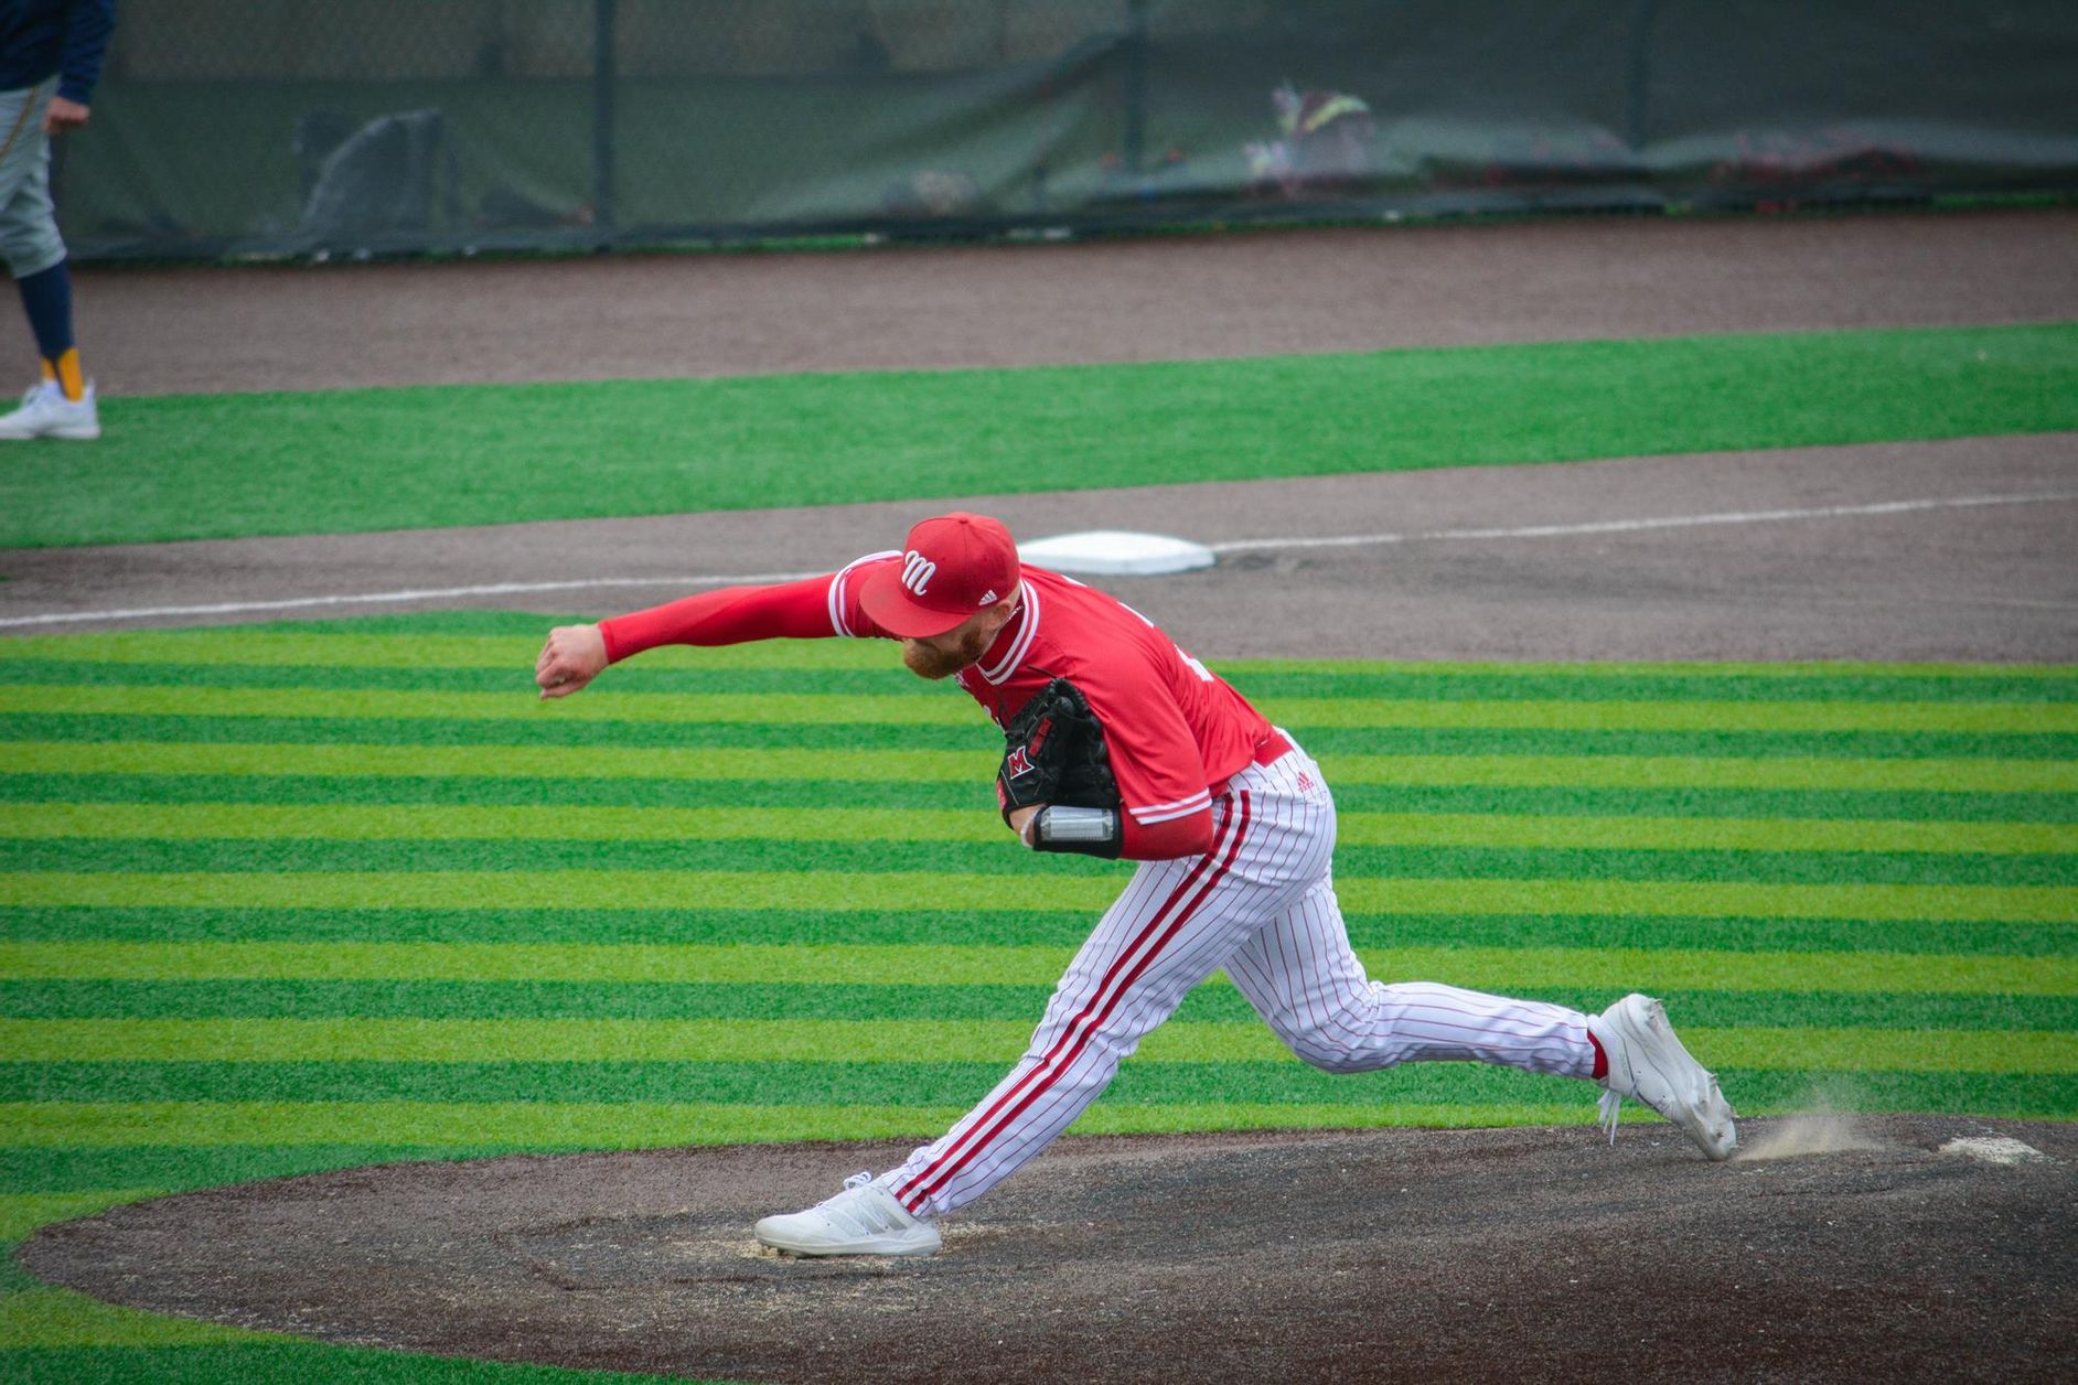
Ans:
[[[0,1020],[4,1063],[923,1063],[1012,1061],[1014,1020]],[[2078,1034],[1683,1026],[1708,1065],[1808,1071],[2078,1071]],[[1263,1024],[1172,1022],[1143,1063],[1288,1057]]]

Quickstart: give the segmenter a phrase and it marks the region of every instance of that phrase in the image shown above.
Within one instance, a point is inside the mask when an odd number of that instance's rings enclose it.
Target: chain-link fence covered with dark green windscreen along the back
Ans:
[[[2078,183],[2063,0],[125,0],[79,257]]]

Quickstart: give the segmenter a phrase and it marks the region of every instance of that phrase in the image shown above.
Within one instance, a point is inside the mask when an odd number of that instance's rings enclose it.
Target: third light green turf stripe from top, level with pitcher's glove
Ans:
[[[0,741],[15,775],[750,779],[985,785],[1000,750],[640,750],[613,745],[310,745]],[[1334,785],[2078,793],[2078,760],[1831,756],[1317,756]]]

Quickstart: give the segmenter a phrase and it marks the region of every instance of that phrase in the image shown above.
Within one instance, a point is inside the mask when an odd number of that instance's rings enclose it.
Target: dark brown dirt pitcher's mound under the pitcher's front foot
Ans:
[[[1943,1152],[1987,1136],[2041,1157]],[[21,1258],[158,1312],[707,1379],[2068,1379],[2078,1132],[1741,1138],[1762,1157],[1652,1125],[1062,1140],[925,1260],[750,1240],[906,1146],[391,1165],[112,1209]]]

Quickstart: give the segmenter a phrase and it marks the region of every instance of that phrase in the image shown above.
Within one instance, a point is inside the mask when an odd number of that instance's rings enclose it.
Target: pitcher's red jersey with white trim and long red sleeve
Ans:
[[[827,577],[727,588],[601,621],[607,656],[619,662],[659,644],[894,640],[864,613],[858,592],[875,567],[900,563],[900,552],[875,552]],[[1124,853],[1141,856],[1137,843],[1182,841],[1160,824],[1184,826],[1199,816],[1209,839],[1209,789],[1249,764],[1270,737],[1263,714],[1133,606],[1074,577],[1024,567],[1016,615],[956,681],[1002,725],[1056,677],[1083,689],[1103,723],[1126,814]]]

